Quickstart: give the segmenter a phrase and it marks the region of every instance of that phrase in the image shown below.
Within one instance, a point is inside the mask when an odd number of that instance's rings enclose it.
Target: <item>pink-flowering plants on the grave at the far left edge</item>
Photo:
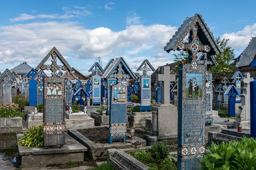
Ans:
[[[25,120],[25,116],[20,112],[18,104],[8,102],[0,104],[0,117],[22,117]]]

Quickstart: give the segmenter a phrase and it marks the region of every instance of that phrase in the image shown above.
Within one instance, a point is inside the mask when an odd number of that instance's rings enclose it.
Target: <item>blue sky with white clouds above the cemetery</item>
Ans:
[[[195,13],[238,57],[256,36],[255,7],[251,0],[3,0],[0,71],[22,62],[36,68],[54,46],[84,75],[98,57],[103,68],[124,57],[135,72],[145,59],[156,69],[173,62],[164,46]]]

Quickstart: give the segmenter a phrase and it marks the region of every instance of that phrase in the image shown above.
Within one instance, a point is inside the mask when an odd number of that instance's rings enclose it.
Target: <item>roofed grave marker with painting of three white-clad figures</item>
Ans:
[[[51,59],[49,59],[51,58]],[[45,65],[47,60],[52,64]],[[59,65],[61,62],[63,65]],[[66,60],[54,47],[36,67],[36,71],[51,71],[52,77],[44,78],[44,110],[43,110],[43,133],[44,146],[65,144],[65,83],[66,77],[57,77],[59,71],[73,71]],[[59,74],[61,75],[61,74]],[[66,79],[66,80],[65,80]]]

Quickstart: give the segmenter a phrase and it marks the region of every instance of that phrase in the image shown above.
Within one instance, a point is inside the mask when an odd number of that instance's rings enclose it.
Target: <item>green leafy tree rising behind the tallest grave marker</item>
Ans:
[[[222,40],[220,37],[216,38],[217,44],[222,49],[222,53],[219,55],[214,56],[216,62],[218,63],[217,66],[210,66],[208,71],[212,73],[227,73],[234,70],[234,67],[231,65],[232,60],[234,59],[234,49],[231,49],[230,46],[227,46],[227,42],[229,39],[223,38]],[[176,67],[173,67],[173,71],[175,73],[179,73],[179,64],[184,64],[189,62],[189,53],[188,51],[179,51],[177,54],[173,54],[174,61]]]

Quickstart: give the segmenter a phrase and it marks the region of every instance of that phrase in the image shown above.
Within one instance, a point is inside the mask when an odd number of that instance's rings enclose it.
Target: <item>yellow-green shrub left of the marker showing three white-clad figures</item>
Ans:
[[[17,144],[27,148],[30,146],[35,148],[43,147],[43,125],[29,127]]]

